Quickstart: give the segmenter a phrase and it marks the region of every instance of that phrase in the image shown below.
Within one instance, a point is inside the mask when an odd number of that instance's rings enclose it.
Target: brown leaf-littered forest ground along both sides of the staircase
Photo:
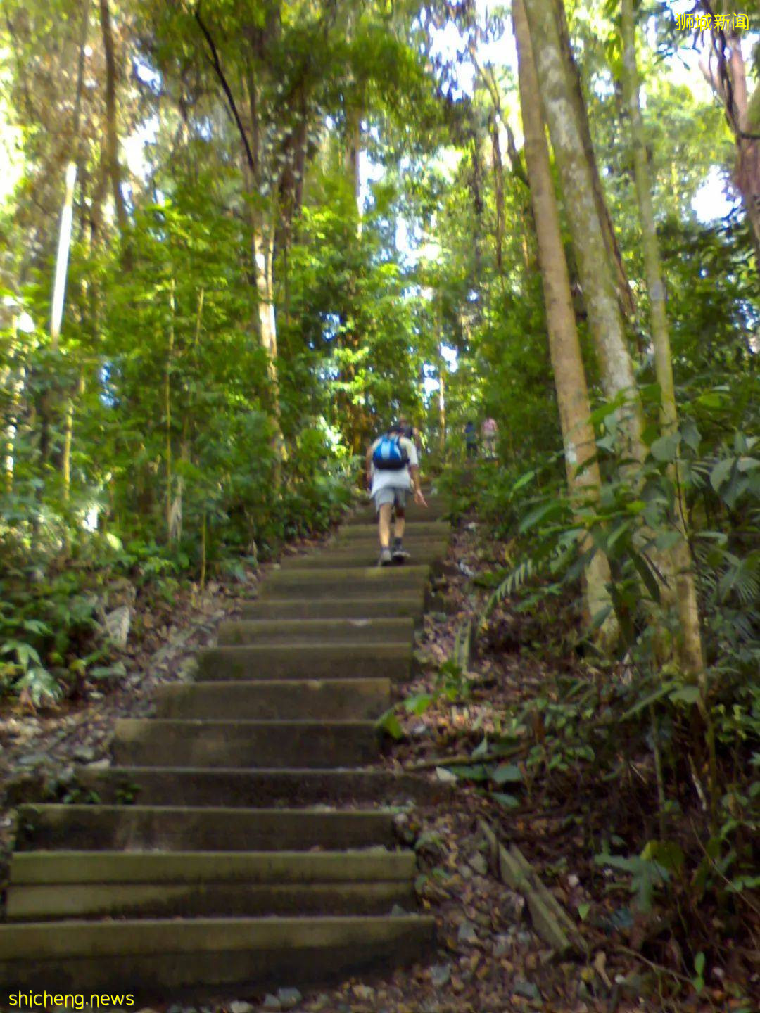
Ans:
[[[453,608],[426,617],[417,634],[420,674],[412,685],[398,688],[399,700],[434,693],[458,633],[480,613],[485,595],[473,594],[471,577],[493,565],[495,549],[483,552],[474,522],[455,532],[446,577]],[[203,592],[186,586],[163,605],[154,599],[141,605],[138,598],[133,633],[120,655],[125,677],[112,686],[85,685],[80,699],[55,709],[5,705],[0,710],[0,785],[12,786],[0,806],[3,871],[13,837],[11,802],[39,799],[46,790],[61,799],[74,764],[105,766],[116,720],[148,714],[155,687],[183,678],[198,649],[214,642],[219,623],[238,614],[240,602],[252,597],[265,574],[267,567],[249,570],[234,580],[210,582]],[[574,669],[574,658],[559,656],[547,642],[546,621],[517,616],[509,603],[501,607],[463,676],[470,684],[464,700],[442,697],[422,713],[397,711],[403,734],[388,741],[383,766],[433,782],[452,781],[450,769],[462,775],[450,801],[417,803],[397,817],[400,839],[419,856],[421,909],[437,922],[437,952],[428,961],[303,992],[283,982],[279,992],[265,995],[166,997],[142,1007],[143,1013],[751,1013],[760,1008],[752,998],[760,995],[760,978],[747,976],[741,947],[736,953],[730,947],[723,967],[697,992],[678,969],[679,954],[672,954],[670,965],[647,955],[652,925],[637,926],[635,918],[621,922],[621,913],[628,912],[625,899],[605,883],[591,848],[594,835],[620,815],[614,792],[607,797],[609,789],[599,786],[589,794],[588,785],[574,783],[572,775],[563,797],[526,779],[507,783],[498,794],[469,779],[468,768],[472,773],[477,759],[473,751],[484,737],[499,735],[503,716],[538,695],[550,696],[557,674]],[[516,755],[511,762],[520,766],[522,759]],[[482,821],[519,846],[578,923],[588,955],[557,957],[534,931],[524,897],[491,874]]]

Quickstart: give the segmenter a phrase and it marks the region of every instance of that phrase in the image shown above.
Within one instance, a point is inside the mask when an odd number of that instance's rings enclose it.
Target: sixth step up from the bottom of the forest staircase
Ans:
[[[216,720],[369,720],[390,706],[388,679],[175,683],[155,694],[156,715]]]

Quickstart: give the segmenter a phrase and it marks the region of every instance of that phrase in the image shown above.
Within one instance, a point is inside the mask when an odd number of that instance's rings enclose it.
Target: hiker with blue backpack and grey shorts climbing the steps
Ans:
[[[406,436],[406,426],[400,419],[367,449],[367,488],[375,500],[380,537],[380,558],[378,566],[402,563],[408,552],[403,548],[403,532],[406,523],[406,495],[414,494],[414,502],[427,506],[420,485],[420,459],[412,436]],[[411,426],[409,426],[411,428]],[[393,546],[390,544],[391,515],[395,510],[393,526]]]

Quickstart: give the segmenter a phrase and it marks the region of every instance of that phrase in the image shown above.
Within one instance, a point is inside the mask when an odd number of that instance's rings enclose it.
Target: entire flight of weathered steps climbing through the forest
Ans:
[[[375,565],[368,511],[288,557],[194,683],[118,722],[94,803],[19,808],[2,991],[259,990],[431,947],[393,827],[428,784],[370,766],[448,539],[440,501],[409,513],[405,565]]]

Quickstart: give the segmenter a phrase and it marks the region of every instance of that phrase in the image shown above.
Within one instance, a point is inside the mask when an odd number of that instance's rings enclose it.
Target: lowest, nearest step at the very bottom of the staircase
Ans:
[[[48,987],[141,997],[191,987],[208,994],[222,986],[317,984],[412,962],[434,938],[434,920],[417,915],[2,925],[0,981],[8,992]]]

